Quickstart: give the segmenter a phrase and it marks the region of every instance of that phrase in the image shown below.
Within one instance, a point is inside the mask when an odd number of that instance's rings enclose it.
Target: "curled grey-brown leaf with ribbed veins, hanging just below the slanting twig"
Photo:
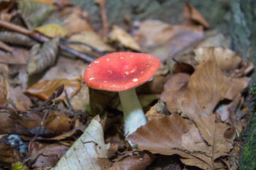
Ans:
[[[54,64],[58,53],[59,37],[55,37],[48,42],[44,42],[43,46],[34,45],[28,56],[27,72],[28,75],[41,72],[46,67]]]

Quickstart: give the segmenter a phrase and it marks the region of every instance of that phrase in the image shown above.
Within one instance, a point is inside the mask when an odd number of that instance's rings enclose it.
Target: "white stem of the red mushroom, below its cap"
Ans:
[[[135,88],[119,91],[119,96],[124,112],[124,135],[130,135],[141,125],[146,124],[146,118]]]

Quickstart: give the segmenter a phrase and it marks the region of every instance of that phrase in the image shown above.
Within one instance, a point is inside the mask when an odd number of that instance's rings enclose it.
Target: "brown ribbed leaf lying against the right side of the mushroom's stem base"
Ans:
[[[129,135],[126,140],[136,143],[139,149],[146,149],[154,154],[180,154],[175,148],[181,148],[181,137],[188,131],[190,125],[190,120],[172,114],[149,120],[146,125]]]

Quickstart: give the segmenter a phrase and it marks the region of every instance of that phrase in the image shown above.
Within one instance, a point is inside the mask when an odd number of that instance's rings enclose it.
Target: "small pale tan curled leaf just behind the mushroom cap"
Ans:
[[[129,35],[125,30],[119,26],[112,26],[112,30],[108,35],[110,41],[117,41],[124,47],[130,48],[135,51],[140,51],[140,47],[137,42]]]

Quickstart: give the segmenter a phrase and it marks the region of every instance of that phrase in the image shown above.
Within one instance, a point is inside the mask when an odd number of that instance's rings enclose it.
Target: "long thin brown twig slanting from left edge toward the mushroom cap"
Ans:
[[[38,40],[39,42],[46,42],[50,39],[50,38],[47,38],[44,35],[41,35],[40,33],[36,33],[36,32],[31,31],[31,30],[27,30],[26,28],[23,28],[21,26],[16,26],[13,23],[9,23],[9,22],[6,22],[6,21],[1,21],[0,20],[0,28],[5,28],[6,30],[11,30],[11,31],[14,31],[14,32],[17,32],[17,33],[21,33],[23,35],[28,35],[29,37],[31,37],[35,40]],[[81,60],[84,60],[85,62],[94,61],[93,58],[91,58],[87,55],[84,55],[84,54],[82,54],[82,53],[80,53],[76,50],[73,50],[70,47],[67,47],[67,46],[65,46],[61,43],[60,43],[59,47],[60,47],[61,50],[69,52],[70,54],[75,55],[76,57],[80,58]]]

